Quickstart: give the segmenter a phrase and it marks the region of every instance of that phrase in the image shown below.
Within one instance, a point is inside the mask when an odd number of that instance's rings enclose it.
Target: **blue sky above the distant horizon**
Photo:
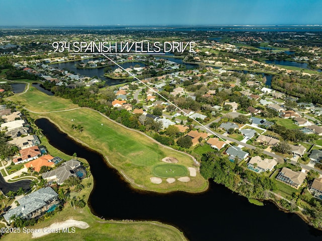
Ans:
[[[322,25],[322,0],[0,0],[0,26]]]

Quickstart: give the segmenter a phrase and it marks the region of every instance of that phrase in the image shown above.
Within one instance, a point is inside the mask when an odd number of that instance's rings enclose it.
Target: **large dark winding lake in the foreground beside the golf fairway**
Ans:
[[[94,177],[89,198],[92,212],[106,219],[158,220],[179,228],[191,241],[322,239],[322,232],[297,215],[267,202],[260,207],[210,181],[204,193],[157,194],[130,187],[103,156],[70,139],[47,119],[36,120],[49,143],[61,151],[86,158]],[[108,138],[108,137],[107,137]]]

